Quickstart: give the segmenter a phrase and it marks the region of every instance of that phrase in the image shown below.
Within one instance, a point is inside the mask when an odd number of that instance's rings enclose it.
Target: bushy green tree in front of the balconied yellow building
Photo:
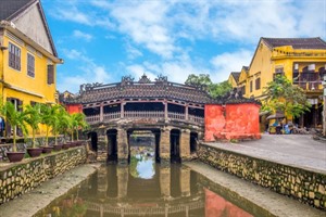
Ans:
[[[310,111],[311,104],[306,101],[304,90],[292,82],[285,76],[278,75],[267,84],[264,90],[266,94],[265,103],[262,110],[284,112],[286,116],[299,117],[306,111]]]

